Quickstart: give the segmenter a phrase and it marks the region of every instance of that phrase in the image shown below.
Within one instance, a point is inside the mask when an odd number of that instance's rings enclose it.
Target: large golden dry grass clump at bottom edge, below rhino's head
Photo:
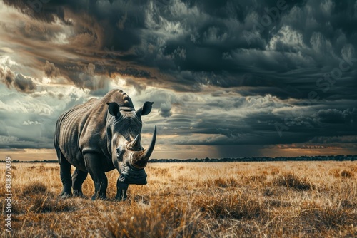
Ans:
[[[173,197],[166,202],[151,200],[149,205],[130,202],[129,206],[106,223],[109,237],[195,237],[199,212]]]

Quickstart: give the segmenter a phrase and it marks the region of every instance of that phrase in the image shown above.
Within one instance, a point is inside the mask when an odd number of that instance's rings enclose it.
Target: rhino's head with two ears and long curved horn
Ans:
[[[141,145],[141,116],[148,115],[151,112],[152,104],[150,102],[138,110],[131,106],[117,103],[107,103],[108,110],[113,120],[107,125],[108,133],[111,134],[110,143],[112,162],[120,173],[118,182],[123,184],[145,185],[146,167],[149,157],[154,150],[156,142],[156,126],[151,144],[147,150]]]

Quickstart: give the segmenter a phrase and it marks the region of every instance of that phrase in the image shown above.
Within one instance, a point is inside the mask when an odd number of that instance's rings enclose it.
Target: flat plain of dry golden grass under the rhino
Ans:
[[[96,201],[57,198],[57,164],[11,172],[12,232],[1,237],[357,237],[352,161],[149,163],[148,185],[130,185],[124,202],[113,200],[116,171]],[[83,191],[93,194],[90,177]]]

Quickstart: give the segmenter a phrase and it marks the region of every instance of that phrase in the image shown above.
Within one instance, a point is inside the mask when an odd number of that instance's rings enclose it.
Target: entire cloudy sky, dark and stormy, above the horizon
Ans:
[[[112,88],[155,158],[357,154],[357,1],[0,0],[0,155]],[[2,160],[2,158],[1,158]]]

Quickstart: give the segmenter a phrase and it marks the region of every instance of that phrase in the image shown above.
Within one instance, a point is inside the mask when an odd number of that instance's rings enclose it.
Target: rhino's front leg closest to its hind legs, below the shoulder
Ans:
[[[108,179],[106,178],[106,173],[104,172],[103,166],[101,164],[100,156],[96,154],[86,154],[84,155],[84,162],[86,169],[91,175],[94,182],[94,195],[91,200],[96,200],[97,198],[106,199],[106,187],[108,187]]]

